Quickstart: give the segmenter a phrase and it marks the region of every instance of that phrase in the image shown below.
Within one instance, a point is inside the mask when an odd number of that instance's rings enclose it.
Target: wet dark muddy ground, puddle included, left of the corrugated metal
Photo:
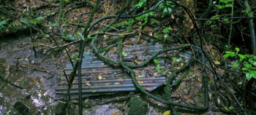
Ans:
[[[26,103],[31,114],[53,113],[55,87],[66,60],[61,55],[46,55],[39,51],[34,57],[29,43],[31,39],[26,36],[0,41],[0,75],[24,88],[1,82],[0,114],[17,113],[12,107],[17,101]]]

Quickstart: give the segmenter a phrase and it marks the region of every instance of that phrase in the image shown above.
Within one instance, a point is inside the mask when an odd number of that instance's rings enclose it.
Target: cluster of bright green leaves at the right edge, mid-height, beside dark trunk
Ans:
[[[233,64],[233,68],[241,66],[242,71],[246,74],[246,79],[250,80],[252,78],[256,79],[256,56],[249,54],[239,54],[240,49],[236,47],[236,52],[226,51],[225,55],[222,57],[235,57],[238,58],[238,62]]]

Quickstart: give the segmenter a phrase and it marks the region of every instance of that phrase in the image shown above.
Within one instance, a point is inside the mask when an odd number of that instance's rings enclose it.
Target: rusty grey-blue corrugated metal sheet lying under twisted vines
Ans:
[[[146,60],[154,52],[162,49],[161,44],[143,44],[135,46],[124,47],[124,52],[127,53],[127,57],[124,59],[134,60],[134,58],[139,58],[138,60]],[[106,54],[108,57],[117,58],[118,56],[114,53]],[[162,56],[162,55],[160,55]],[[161,65],[165,65],[164,60],[159,60]],[[64,68],[67,74],[72,71],[72,66],[70,63]],[[165,84],[165,77],[157,77],[151,74],[154,70],[154,66],[147,66],[144,68],[138,68],[137,73],[143,75],[143,78],[138,79],[138,82],[146,90],[151,91],[159,86]],[[102,80],[97,79],[98,76],[102,76]],[[78,98],[78,78],[75,78],[73,82],[70,95],[72,98]],[[108,66],[104,61],[99,60],[94,53],[86,53],[83,57],[82,63],[82,84],[83,84],[83,97],[86,95],[102,94],[105,92],[127,92],[135,91],[135,86],[129,76],[122,71],[120,68],[113,68]],[[56,88],[56,95],[63,97],[67,93],[67,81],[64,77],[61,78],[58,87]]]

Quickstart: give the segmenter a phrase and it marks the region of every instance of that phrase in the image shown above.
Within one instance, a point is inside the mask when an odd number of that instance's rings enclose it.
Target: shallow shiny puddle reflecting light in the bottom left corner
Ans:
[[[7,78],[7,81],[11,83],[0,79],[0,115],[18,114],[13,107],[18,101],[30,108],[26,114],[51,114],[49,110],[53,108],[53,98],[50,92],[45,90],[41,77],[20,71],[15,65],[10,65],[7,60],[1,58],[0,77]]]

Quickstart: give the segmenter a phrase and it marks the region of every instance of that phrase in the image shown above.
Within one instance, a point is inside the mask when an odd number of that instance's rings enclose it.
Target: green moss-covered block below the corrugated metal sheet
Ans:
[[[129,101],[129,115],[145,115],[148,111],[147,103],[140,97],[132,98]]]

